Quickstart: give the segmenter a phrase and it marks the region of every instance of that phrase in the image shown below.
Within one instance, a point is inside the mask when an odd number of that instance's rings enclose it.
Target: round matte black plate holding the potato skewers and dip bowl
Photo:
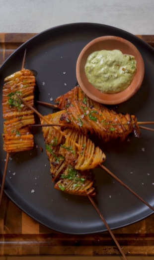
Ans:
[[[3,132],[3,79],[21,69],[25,48],[25,68],[38,73],[36,79],[40,100],[51,102],[51,97],[54,100],[75,87],[76,62],[80,51],[89,41],[104,35],[115,35],[131,41],[141,52],[145,62],[145,78],[140,91],[129,101],[115,107],[115,110],[135,114],[139,121],[154,121],[154,49],[123,30],[100,24],[77,23],[38,34],[18,48],[1,66],[0,134]],[[52,113],[50,108],[37,108],[43,115]],[[44,151],[41,152],[38,147],[13,156],[9,161],[4,188],[7,196],[28,215],[54,230],[71,234],[106,230],[86,197],[68,195],[54,189],[41,128],[35,129],[33,133],[35,145],[42,146]],[[123,142],[105,144],[102,140],[95,139],[95,143],[106,153],[104,165],[154,206],[154,133],[142,130],[141,139],[130,136]],[[0,181],[6,157],[2,146],[0,137]],[[129,225],[152,213],[152,210],[102,169],[97,168],[94,173],[96,202],[111,229]],[[32,189],[35,193],[31,193]]]

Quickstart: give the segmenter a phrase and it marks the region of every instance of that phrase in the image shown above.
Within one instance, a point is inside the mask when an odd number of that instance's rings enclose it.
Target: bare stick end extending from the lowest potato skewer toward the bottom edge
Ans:
[[[90,200],[91,204],[93,205],[93,207],[94,207],[95,210],[97,211],[99,217],[100,217],[100,218],[102,219],[102,221],[104,222],[105,227],[107,228],[108,232],[110,233],[111,237],[113,238],[113,240],[114,240],[115,244],[117,245],[117,247],[118,247],[118,249],[119,249],[121,255],[123,256],[123,258],[124,258],[125,260],[127,260],[127,258],[126,258],[126,256],[125,256],[125,254],[123,253],[123,251],[122,251],[122,249],[121,249],[121,247],[120,247],[118,241],[116,240],[115,236],[113,235],[112,231],[110,230],[110,227],[109,227],[108,224],[106,223],[104,217],[102,216],[101,212],[100,212],[99,209],[97,208],[97,206],[96,206],[96,204],[94,203],[93,199],[92,199],[89,195],[88,195],[88,199]]]

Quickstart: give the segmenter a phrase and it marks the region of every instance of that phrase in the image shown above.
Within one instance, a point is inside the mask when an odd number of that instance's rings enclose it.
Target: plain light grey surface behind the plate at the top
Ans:
[[[0,32],[41,32],[72,22],[154,34],[154,0],[0,0]]]

